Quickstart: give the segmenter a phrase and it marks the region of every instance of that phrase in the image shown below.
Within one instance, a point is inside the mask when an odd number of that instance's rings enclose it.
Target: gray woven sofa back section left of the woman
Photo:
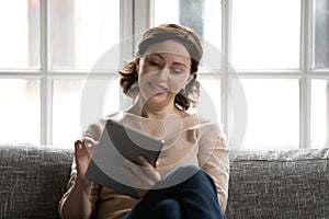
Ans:
[[[72,150],[46,146],[0,146],[0,218],[58,218]]]

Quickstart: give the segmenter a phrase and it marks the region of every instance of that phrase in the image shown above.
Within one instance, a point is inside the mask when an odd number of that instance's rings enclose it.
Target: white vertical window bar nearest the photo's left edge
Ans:
[[[53,143],[53,79],[49,77],[49,1],[41,1],[41,143]]]

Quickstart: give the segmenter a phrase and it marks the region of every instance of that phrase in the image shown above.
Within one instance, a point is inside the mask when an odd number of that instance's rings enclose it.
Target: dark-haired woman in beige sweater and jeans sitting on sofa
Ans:
[[[134,104],[90,125],[76,141],[68,191],[59,203],[61,218],[222,218],[229,172],[225,135],[188,111],[198,96],[202,54],[198,36],[188,27],[163,24],[143,34],[135,58],[120,72]],[[109,118],[166,141],[155,166],[143,157],[143,168],[128,160],[123,166],[138,199],[84,177]]]

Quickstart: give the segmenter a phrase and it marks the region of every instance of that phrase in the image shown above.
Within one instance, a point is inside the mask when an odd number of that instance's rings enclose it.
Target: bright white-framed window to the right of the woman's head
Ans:
[[[228,65],[213,72],[202,69],[200,80],[220,80],[222,95],[214,105],[222,108],[230,147],[328,147],[328,0],[154,0],[154,24],[189,25],[206,45],[227,56]],[[241,100],[240,89],[245,106],[234,103]],[[246,114],[238,115],[241,111]],[[241,126],[238,135],[236,126]]]

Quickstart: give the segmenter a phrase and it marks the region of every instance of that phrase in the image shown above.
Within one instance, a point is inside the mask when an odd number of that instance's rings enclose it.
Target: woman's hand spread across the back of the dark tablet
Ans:
[[[141,155],[138,157],[138,161],[139,164],[136,164],[126,159],[124,171],[135,187],[137,195],[144,197],[161,180],[161,176],[157,171],[157,163],[154,166]]]

